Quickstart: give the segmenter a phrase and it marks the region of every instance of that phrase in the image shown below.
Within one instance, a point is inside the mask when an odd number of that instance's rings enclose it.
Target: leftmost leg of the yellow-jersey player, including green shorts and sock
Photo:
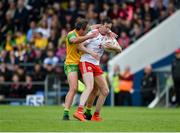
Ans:
[[[73,102],[73,98],[78,88],[78,66],[69,66],[69,70],[66,71],[67,79],[69,83],[69,90],[65,97],[65,108],[63,120],[69,120],[69,110]]]

